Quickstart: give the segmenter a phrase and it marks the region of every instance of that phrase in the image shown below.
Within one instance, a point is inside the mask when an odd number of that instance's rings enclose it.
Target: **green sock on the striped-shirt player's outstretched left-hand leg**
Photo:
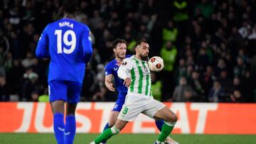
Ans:
[[[111,130],[112,129],[112,130]],[[112,132],[114,131],[114,133]],[[117,127],[113,126],[112,128],[107,128],[105,129],[105,131],[103,131],[103,133],[101,133],[97,138],[95,138],[94,142],[96,144],[101,143],[103,140],[107,140],[109,139],[112,135],[116,135],[117,133],[119,133],[119,130],[117,129]]]

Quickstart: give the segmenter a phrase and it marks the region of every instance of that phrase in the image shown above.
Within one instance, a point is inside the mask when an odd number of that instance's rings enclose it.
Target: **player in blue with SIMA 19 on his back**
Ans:
[[[90,29],[75,21],[77,10],[77,1],[64,0],[64,18],[46,26],[36,48],[37,57],[50,58],[48,87],[58,144],[72,144],[75,138],[75,109],[80,101],[85,67],[92,57]]]

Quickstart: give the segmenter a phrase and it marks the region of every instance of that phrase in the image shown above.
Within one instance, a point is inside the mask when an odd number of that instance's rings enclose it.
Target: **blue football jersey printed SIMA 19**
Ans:
[[[80,82],[92,57],[90,29],[70,18],[48,24],[38,40],[36,57],[50,58],[48,82]]]

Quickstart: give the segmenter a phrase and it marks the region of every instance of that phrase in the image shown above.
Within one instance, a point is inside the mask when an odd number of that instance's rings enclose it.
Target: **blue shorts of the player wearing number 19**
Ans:
[[[69,104],[77,104],[80,101],[82,84],[66,80],[53,80],[49,82],[50,102],[63,100]]]

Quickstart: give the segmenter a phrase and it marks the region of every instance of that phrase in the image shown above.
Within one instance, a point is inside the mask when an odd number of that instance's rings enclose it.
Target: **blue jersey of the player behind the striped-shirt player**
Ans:
[[[126,55],[125,57],[131,57],[132,55]],[[117,76],[117,70],[119,69],[119,65],[117,65],[117,60],[114,59],[107,63],[105,66],[105,75],[112,74],[114,76],[114,84],[116,86],[117,92],[119,96],[126,96],[127,87],[124,86],[124,80],[119,79]]]

